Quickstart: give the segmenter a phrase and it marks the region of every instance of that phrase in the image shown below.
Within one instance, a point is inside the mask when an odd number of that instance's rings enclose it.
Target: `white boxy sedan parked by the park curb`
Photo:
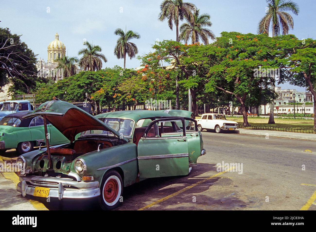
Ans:
[[[237,129],[238,123],[228,121],[223,114],[203,114],[201,119],[197,119],[197,128],[199,131],[213,129],[216,133],[221,133],[222,130]]]

